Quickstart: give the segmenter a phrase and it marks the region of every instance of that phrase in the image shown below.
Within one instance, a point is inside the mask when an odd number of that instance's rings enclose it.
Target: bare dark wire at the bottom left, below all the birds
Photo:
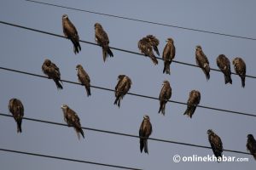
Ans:
[[[12,152],[12,153],[16,153],[16,154],[28,155],[28,156],[47,157],[47,158],[63,160],[63,161],[75,161],[75,162],[88,163],[88,164],[104,166],[104,167],[116,167],[116,168],[121,168],[121,169],[142,170],[142,169],[138,169],[138,168],[134,168],[134,167],[122,167],[122,166],[110,165],[110,164],[105,164],[105,163],[98,163],[95,161],[83,161],[83,160],[71,159],[71,158],[66,158],[66,157],[49,156],[49,155],[43,155],[43,154],[38,154],[38,153],[26,152],[26,151],[7,150],[7,149],[3,149],[3,148],[0,148],[0,150],[6,151],[6,152]]]

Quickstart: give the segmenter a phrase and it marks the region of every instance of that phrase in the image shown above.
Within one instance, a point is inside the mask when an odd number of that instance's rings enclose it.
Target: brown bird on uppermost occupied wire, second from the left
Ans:
[[[111,49],[108,47],[108,43],[109,43],[108,34],[106,31],[104,31],[102,25],[99,23],[96,23],[94,25],[94,28],[95,28],[95,40],[100,46],[102,46],[103,60],[105,62],[108,55],[110,57],[113,57],[113,53]]]

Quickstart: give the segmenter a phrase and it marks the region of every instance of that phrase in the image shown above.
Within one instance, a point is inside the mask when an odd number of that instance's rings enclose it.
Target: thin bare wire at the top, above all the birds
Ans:
[[[242,37],[242,36],[225,34],[225,33],[220,33],[220,32],[215,32],[215,31],[205,31],[205,30],[188,28],[188,27],[183,27],[183,26],[174,26],[174,25],[164,24],[164,23],[160,23],[160,22],[154,22],[154,21],[148,21],[148,20],[139,20],[139,19],[133,19],[133,18],[125,17],[125,16],[119,16],[119,15],[113,15],[113,14],[104,14],[104,13],[99,13],[99,12],[96,12],[96,11],[90,11],[90,10],[79,9],[79,8],[71,8],[71,7],[57,5],[57,4],[53,4],[53,3],[42,3],[42,2],[38,2],[38,1],[32,1],[32,0],[25,0],[25,1],[30,2],[30,3],[44,4],[44,5],[53,6],[53,7],[57,7],[57,8],[67,8],[67,9],[76,10],[76,11],[80,11],[80,12],[84,12],[84,13],[99,14],[99,15],[104,15],[104,16],[108,16],[108,17],[123,19],[123,20],[133,20],[133,21],[143,22],[143,23],[147,23],[147,24],[153,24],[153,25],[157,25],[157,26],[167,26],[167,27],[172,27],[172,28],[177,28],[177,29],[182,29],[182,30],[187,30],[187,31],[197,31],[197,32],[209,33],[209,34],[225,36],[225,37],[236,37],[236,38],[254,40],[254,41],[256,40],[256,38],[253,38],[253,37]]]

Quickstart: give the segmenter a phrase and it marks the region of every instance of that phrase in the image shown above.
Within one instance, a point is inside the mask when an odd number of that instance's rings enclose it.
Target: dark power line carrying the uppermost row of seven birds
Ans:
[[[62,37],[62,38],[65,38],[65,39],[66,39],[66,37],[61,36],[61,35],[58,35],[58,34],[55,34],[55,33],[51,33],[51,32],[48,32],[48,31],[40,31],[40,30],[33,29],[33,28],[30,28],[30,27],[26,27],[26,26],[15,25],[15,24],[12,24],[12,23],[9,23],[9,22],[5,22],[5,21],[3,21],[3,20],[0,20],[0,24],[8,25],[8,26],[15,26],[15,27],[22,28],[22,29],[25,29],[25,30],[36,31],[36,32],[40,32],[40,33],[47,34],[47,35],[50,35],[50,36]],[[88,43],[88,44],[90,44],[90,45],[100,46],[100,45],[98,45],[98,44],[95,43],[95,42],[87,42],[87,41],[84,41],[84,40],[79,40],[79,42],[84,42],[84,43]],[[109,48],[115,49],[115,50],[117,50],[117,51],[122,51],[122,52],[125,52],[125,53],[129,53],[129,54],[137,54],[137,55],[141,55],[141,56],[144,56],[144,57],[148,57],[148,56],[145,56],[144,54],[140,54],[140,53],[137,53],[137,52],[134,52],[134,51],[130,51],[130,50],[126,50],[126,49],[122,49],[122,48],[113,48],[113,47],[109,47]],[[162,59],[162,58],[160,58],[160,57],[156,57],[156,59],[166,60],[166,59]],[[177,64],[180,64],[180,65],[189,65],[189,66],[193,66],[193,67],[200,68],[198,65],[193,65],[193,64],[189,64],[189,63],[182,62],[182,61],[172,60],[172,62],[177,63]],[[212,69],[212,68],[211,68],[210,70],[221,72],[221,71],[218,70],[218,69]],[[231,74],[233,74],[233,75],[238,75],[238,74],[236,74],[235,72],[231,72]],[[256,77],[254,77],[254,76],[246,75],[246,77],[250,77],[250,78],[255,78],[255,79],[256,79]]]

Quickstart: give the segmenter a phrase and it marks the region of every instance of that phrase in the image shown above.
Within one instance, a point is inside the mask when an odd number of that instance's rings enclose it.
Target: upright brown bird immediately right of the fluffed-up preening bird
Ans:
[[[166,72],[166,74],[170,75],[171,74],[170,65],[172,63],[172,59],[174,59],[175,57],[175,46],[171,37],[168,38],[166,42],[167,44],[166,44],[166,47],[164,48],[163,56],[162,56],[162,59],[164,59],[164,65],[165,65],[163,73]]]

